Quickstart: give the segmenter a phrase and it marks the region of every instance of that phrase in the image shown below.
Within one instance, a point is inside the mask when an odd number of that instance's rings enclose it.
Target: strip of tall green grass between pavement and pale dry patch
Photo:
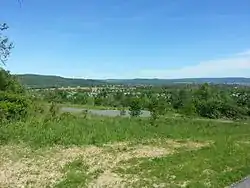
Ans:
[[[191,140],[225,140],[248,137],[250,126],[243,123],[197,121],[192,119],[160,119],[157,127],[148,119],[109,118],[73,115],[44,118],[0,126],[0,143],[24,142],[31,146],[87,145],[124,140],[173,138]]]

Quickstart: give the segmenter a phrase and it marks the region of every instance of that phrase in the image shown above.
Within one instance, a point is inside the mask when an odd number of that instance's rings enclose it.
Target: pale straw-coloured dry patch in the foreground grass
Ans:
[[[158,141],[157,141],[158,142]],[[148,143],[148,144],[147,144]],[[154,141],[133,145],[129,142],[106,144],[103,147],[71,147],[47,148],[32,151],[25,146],[7,145],[0,147],[0,187],[49,187],[57,184],[65,174],[62,168],[81,159],[89,166],[89,174],[96,176],[89,182],[88,187],[128,187],[140,180],[140,177],[119,175],[112,170],[120,162],[132,158],[164,157],[181,147],[198,149],[206,144],[194,142],[175,142],[161,140],[159,146]]]

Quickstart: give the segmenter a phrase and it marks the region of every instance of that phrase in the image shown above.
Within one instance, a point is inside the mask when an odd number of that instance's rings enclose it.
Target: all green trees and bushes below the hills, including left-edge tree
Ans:
[[[92,94],[58,89],[29,93],[15,76],[4,69],[13,48],[13,43],[4,35],[7,29],[6,24],[0,25],[1,119],[26,116],[31,100],[40,99],[53,103],[115,107],[121,109],[121,114],[124,114],[124,109],[129,109],[131,116],[139,116],[141,110],[149,110],[152,122],[168,112],[213,119],[244,119],[250,116],[250,87],[244,86],[202,84],[126,88],[115,92],[107,88]]]

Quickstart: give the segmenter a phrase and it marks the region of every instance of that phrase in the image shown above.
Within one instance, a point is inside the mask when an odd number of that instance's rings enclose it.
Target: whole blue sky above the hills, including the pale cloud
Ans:
[[[0,0],[12,73],[250,77],[250,0],[19,1]]]

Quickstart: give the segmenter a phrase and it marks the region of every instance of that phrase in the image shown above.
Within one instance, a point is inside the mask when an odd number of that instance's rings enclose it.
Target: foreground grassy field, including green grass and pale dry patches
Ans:
[[[63,115],[0,126],[0,187],[226,187],[250,174],[250,124]]]

